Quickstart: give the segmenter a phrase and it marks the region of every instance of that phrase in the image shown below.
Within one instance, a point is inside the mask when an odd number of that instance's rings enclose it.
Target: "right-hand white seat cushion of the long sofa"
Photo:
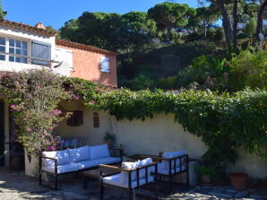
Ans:
[[[119,158],[114,158],[114,157],[108,157],[108,158],[101,158],[101,159],[95,159],[95,160],[90,160],[90,161],[78,161],[76,162],[77,164],[80,165],[80,169],[86,169],[86,168],[92,168],[92,167],[97,167],[99,164],[112,164],[120,162]]]

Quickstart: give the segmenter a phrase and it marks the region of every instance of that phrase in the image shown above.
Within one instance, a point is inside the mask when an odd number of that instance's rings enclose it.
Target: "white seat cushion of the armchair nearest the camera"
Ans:
[[[122,181],[120,181],[120,179],[121,179],[121,174],[116,174],[113,176],[103,178],[103,182],[107,183],[109,185],[112,185],[112,186],[116,186],[116,187],[128,188],[128,182],[123,183]],[[153,181],[154,181],[154,178],[152,176],[149,176],[148,182],[150,183]],[[141,178],[139,184],[140,184],[139,186],[146,184],[145,178]],[[134,187],[137,187],[137,181],[136,180],[132,181],[132,187],[131,188],[134,188]]]

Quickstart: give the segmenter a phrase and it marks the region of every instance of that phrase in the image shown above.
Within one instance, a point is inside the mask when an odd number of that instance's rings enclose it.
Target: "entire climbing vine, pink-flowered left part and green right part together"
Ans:
[[[1,77],[2,76],[2,77]],[[209,147],[203,158],[214,164],[237,160],[237,149],[267,156],[267,92],[234,94],[211,91],[114,90],[77,78],[59,77],[46,70],[5,73],[0,96],[11,105],[18,140],[27,152],[54,149],[53,130],[60,121],[60,100],[82,100],[90,109],[106,110],[117,120],[141,119],[165,112]],[[126,134],[126,133],[125,133]]]

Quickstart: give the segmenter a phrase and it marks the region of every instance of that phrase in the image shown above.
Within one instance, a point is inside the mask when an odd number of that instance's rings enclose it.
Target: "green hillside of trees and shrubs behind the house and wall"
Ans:
[[[119,53],[118,86],[134,91],[263,88],[264,81],[252,83],[241,76],[254,76],[255,72],[245,67],[265,67],[253,58],[266,60],[261,52],[263,42],[257,42],[258,33],[264,33],[257,16],[261,16],[260,8],[265,3],[206,3],[194,9],[187,4],[165,2],[147,13],[85,12],[65,22],[59,37]],[[245,29],[238,30],[237,22],[244,22]],[[233,68],[237,59],[245,60],[244,55],[251,57],[247,65]]]

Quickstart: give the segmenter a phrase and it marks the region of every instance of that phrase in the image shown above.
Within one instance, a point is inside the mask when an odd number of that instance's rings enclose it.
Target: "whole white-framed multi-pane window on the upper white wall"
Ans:
[[[2,52],[5,54],[1,54]],[[28,63],[27,57],[28,43],[26,41],[0,37],[0,60]]]

